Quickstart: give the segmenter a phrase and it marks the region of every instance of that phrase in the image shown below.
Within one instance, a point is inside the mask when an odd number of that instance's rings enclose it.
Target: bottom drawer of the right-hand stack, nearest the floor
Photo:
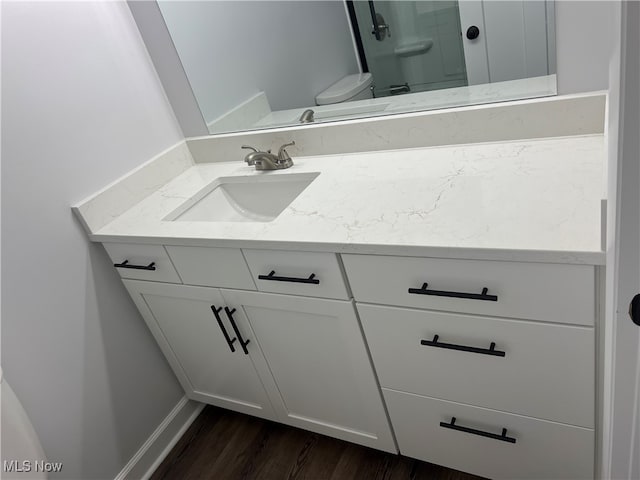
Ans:
[[[382,391],[402,455],[493,479],[593,479],[591,429]],[[503,428],[515,443],[480,434]]]

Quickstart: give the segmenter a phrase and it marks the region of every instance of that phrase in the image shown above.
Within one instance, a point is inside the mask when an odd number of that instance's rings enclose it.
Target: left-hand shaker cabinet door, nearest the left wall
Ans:
[[[274,418],[254,366],[252,357],[264,360],[250,327],[238,317],[234,328],[218,289],[136,280],[124,284],[190,398]],[[248,353],[241,339],[249,340]]]

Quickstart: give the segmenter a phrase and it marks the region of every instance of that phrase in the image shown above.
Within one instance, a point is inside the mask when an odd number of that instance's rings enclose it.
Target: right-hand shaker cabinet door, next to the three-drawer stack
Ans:
[[[351,302],[222,290],[248,319],[283,423],[396,452]]]

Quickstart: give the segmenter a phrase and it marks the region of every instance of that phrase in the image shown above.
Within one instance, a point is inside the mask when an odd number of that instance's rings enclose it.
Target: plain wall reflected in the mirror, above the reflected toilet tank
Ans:
[[[359,72],[343,2],[159,5],[207,123],[260,91],[273,110],[314,105]]]

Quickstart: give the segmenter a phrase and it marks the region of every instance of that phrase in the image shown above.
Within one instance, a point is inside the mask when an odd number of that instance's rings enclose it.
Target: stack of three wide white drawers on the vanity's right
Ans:
[[[343,255],[401,454],[593,478],[595,269]]]

